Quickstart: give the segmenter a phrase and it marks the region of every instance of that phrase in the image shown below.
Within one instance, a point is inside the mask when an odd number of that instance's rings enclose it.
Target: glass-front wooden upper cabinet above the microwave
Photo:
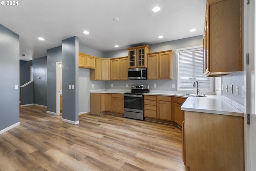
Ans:
[[[147,67],[147,54],[150,53],[148,45],[128,48],[128,68]]]

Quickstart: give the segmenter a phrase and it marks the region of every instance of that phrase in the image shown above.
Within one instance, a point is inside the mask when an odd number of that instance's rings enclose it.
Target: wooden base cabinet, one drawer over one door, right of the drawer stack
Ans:
[[[157,96],[157,119],[172,121],[172,97]]]

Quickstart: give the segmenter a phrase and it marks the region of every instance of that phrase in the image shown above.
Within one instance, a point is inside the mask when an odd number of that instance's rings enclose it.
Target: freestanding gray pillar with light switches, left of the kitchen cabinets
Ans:
[[[78,120],[78,37],[62,40],[62,119]],[[74,85],[69,89],[68,85]]]

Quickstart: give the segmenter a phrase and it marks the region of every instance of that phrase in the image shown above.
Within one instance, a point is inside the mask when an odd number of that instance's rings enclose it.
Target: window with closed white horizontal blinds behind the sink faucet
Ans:
[[[198,81],[200,90],[210,90],[210,78],[203,74],[203,48],[179,49],[177,55],[178,89],[194,89],[193,84]]]

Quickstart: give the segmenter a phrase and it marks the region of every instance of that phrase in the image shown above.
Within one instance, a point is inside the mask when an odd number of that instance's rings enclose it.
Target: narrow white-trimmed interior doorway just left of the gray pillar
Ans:
[[[56,62],[56,115],[62,114],[62,62]]]

